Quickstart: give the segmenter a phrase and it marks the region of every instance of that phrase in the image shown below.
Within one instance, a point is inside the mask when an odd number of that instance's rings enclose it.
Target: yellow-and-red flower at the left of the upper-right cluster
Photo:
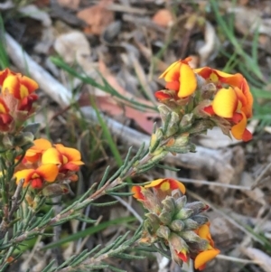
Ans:
[[[173,62],[167,70],[160,76],[167,82],[166,89],[175,91],[175,94],[164,92],[163,90],[157,91],[155,97],[163,100],[164,98],[186,98],[191,96],[197,89],[197,79],[192,68],[189,66],[191,58]]]

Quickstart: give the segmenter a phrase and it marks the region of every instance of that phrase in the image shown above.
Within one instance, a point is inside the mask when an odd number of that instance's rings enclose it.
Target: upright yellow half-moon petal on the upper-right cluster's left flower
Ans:
[[[180,89],[178,91],[179,98],[185,98],[197,89],[197,79],[192,68],[185,63],[182,63],[180,69]]]

